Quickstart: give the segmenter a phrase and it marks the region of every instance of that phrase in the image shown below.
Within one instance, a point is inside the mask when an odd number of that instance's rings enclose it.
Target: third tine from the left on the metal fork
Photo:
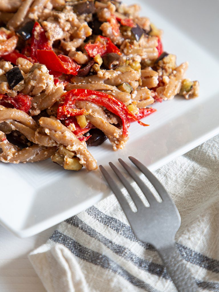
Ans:
[[[155,199],[152,192],[149,190],[149,188],[142,182],[142,180],[139,178],[139,176],[129,167],[121,158],[118,159],[121,165],[126,169],[126,171],[131,175],[131,177],[135,180],[137,185],[142,190],[142,193],[145,195],[146,199],[148,200],[149,204],[152,205],[154,203],[157,203],[157,200]]]

